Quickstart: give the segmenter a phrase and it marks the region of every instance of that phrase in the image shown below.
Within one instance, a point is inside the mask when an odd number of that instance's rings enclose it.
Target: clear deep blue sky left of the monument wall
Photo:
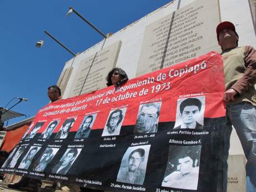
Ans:
[[[75,53],[85,51],[102,40],[76,14],[66,17],[73,7],[105,34],[115,33],[170,0],[93,0],[93,1],[0,1],[0,106],[13,97],[27,98],[14,111],[34,116],[49,99],[47,87],[55,85],[65,62],[73,56],[44,31],[50,32]],[[44,40],[42,48],[36,48]],[[11,107],[18,99],[14,99]],[[18,117],[8,122],[24,120]]]

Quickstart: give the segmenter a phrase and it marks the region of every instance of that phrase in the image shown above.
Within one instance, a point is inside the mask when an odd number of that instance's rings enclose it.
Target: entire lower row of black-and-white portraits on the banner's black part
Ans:
[[[128,147],[122,156],[117,174],[117,182],[143,185],[145,180],[147,160],[151,145]],[[10,155],[3,167],[14,168],[26,146],[19,147],[14,155]],[[31,146],[19,164],[19,169],[28,169],[33,157],[41,149]],[[47,147],[37,158],[32,170],[42,172],[56,155],[58,148]],[[53,166],[52,174],[66,175],[68,170],[80,155],[82,149],[68,148],[60,161]],[[167,188],[196,190],[198,188],[201,146],[169,146],[168,163],[161,186]]]

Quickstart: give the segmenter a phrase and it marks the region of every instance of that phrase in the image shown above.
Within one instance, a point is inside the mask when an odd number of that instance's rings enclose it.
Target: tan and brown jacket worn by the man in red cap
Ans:
[[[224,62],[225,90],[233,88],[238,92],[235,101],[229,104],[248,101],[256,106],[256,50],[251,46],[236,47],[224,50],[221,55]]]

